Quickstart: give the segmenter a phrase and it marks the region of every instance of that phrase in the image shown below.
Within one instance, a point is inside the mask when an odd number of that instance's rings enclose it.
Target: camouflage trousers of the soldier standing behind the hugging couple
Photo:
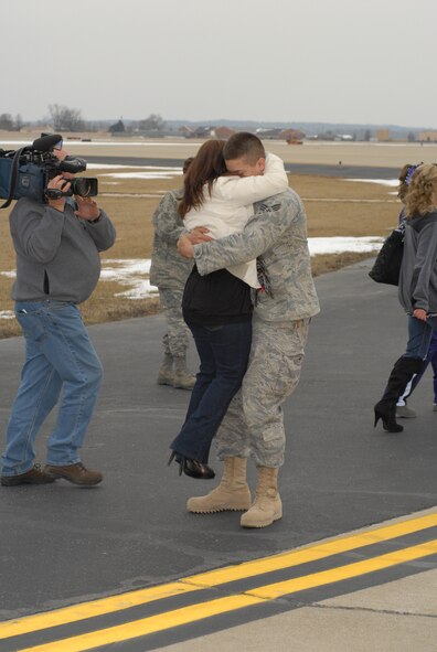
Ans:
[[[166,355],[185,355],[189,345],[189,329],[182,317],[183,289],[158,288],[159,299],[167,320],[167,333],[162,338]]]

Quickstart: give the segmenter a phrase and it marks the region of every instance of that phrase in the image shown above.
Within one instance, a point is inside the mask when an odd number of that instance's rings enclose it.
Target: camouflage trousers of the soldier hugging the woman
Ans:
[[[281,405],[299,383],[309,321],[275,323],[254,316],[246,375],[216,435],[220,459],[252,457],[257,467],[284,463]]]

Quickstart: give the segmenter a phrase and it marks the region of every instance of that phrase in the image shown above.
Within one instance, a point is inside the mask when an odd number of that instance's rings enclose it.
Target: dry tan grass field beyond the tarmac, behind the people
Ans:
[[[124,171],[128,171],[125,169]],[[107,169],[89,175],[99,178],[99,204],[117,228],[115,246],[103,254],[103,259],[150,258],[152,214],[159,196],[177,188],[181,178],[150,180],[118,180],[105,177]],[[396,224],[399,204],[386,186],[374,183],[350,182],[323,177],[290,175],[290,185],[303,199],[311,237],[385,236]],[[122,196],[119,196],[122,195]],[[143,196],[152,195],[152,196]],[[0,213],[0,272],[14,269],[14,252],[9,235],[9,210]],[[313,275],[338,269],[367,254],[341,254],[312,258]],[[145,275],[145,278],[147,275]],[[10,277],[0,275],[0,309],[12,310]],[[127,299],[117,297],[126,290],[116,281],[100,280],[92,298],[82,304],[86,323],[98,323],[150,314],[159,310],[157,298]],[[0,319],[0,338],[20,333],[15,320]]]

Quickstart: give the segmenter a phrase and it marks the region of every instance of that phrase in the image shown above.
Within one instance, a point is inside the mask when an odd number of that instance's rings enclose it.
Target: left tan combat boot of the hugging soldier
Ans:
[[[246,458],[226,458],[223,478],[218,487],[207,495],[190,498],[186,503],[189,512],[212,514],[214,512],[248,510],[251,490],[246,482]]]

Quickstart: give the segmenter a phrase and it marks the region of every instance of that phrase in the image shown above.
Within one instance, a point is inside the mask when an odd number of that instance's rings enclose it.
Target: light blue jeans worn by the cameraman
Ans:
[[[47,463],[74,464],[102,385],[100,361],[76,306],[63,301],[17,302],[25,338],[25,362],[12,405],[2,455],[2,474],[33,467],[34,440],[62,391]]]

